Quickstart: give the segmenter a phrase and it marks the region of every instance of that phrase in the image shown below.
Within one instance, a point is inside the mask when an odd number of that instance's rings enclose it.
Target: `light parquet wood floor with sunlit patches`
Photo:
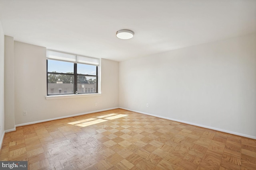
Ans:
[[[256,169],[256,140],[114,109],[17,127],[0,160],[30,170]]]

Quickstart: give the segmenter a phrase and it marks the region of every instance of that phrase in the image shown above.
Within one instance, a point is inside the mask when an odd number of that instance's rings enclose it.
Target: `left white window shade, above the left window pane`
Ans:
[[[58,51],[47,50],[46,57],[48,59],[55,59],[61,61],[70,61],[76,63],[76,55],[68,54],[68,53],[60,53]]]

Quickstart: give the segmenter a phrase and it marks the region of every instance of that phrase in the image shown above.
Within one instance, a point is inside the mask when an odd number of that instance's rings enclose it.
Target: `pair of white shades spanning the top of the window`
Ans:
[[[97,58],[63,53],[63,52],[54,51],[54,50],[47,50],[46,58],[60,60],[60,61],[69,61],[72,63],[90,64],[90,65],[95,65],[95,66],[99,66],[99,64],[100,64],[100,59],[97,59]]]

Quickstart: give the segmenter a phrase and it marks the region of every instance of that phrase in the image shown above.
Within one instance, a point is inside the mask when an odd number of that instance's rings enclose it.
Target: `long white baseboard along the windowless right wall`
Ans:
[[[171,119],[171,118],[169,118],[169,117],[163,117],[163,116],[153,115],[153,114],[144,113],[144,112],[141,112],[141,111],[136,111],[136,110],[127,109],[127,108],[123,108],[123,107],[119,107],[119,108],[120,108],[120,109],[124,109],[124,110],[134,111],[134,112],[137,112],[137,113],[142,113],[142,114],[144,114],[144,115],[150,115],[150,116],[159,117],[159,118],[162,118],[162,119],[168,119],[168,120],[177,121],[177,122],[180,122],[180,123],[186,123],[186,124],[189,124],[189,125],[194,125],[194,126],[198,126],[198,127],[204,127],[204,128],[207,128],[207,129],[212,129],[212,130],[216,130],[216,131],[220,131],[220,132],[230,133],[230,134],[233,134],[233,135],[238,135],[238,136],[242,136],[242,137],[248,137],[248,138],[251,138],[251,139],[256,139],[255,136],[246,135],[246,134],[243,134],[243,133],[236,133],[236,132],[227,131],[227,130],[224,130],[224,129],[218,129],[218,128],[215,128],[215,127],[210,127],[210,126],[205,126],[205,125],[199,125],[199,124],[196,124],[196,123],[191,123],[191,122],[182,121],[182,120],[177,120],[177,119]]]

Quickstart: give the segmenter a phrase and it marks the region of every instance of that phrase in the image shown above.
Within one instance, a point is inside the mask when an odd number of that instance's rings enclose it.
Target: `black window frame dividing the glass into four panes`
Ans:
[[[71,73],[60,73],[60,72],[48,72],[48,60],[53,60],[53,59],[46,59],[46,84],[47,84],[47,96],[61,96],[61,95],[73,95],[76,94],[77,91],[77,77],[78,76],[90,76],[90,77],[95,77],[96,78],[96,92],[78,92],[78,94],[97,94],[98,93],[98,66],[96,66],[96,75],[90,75],[90,74],[77,74],[77,63],[74,64],[74,74]],[[68,62],[68,61],[62,61],[62,62]],[[72,62],[71,62],[72,63]],[[79,64],[84,64],[84,63],[79,63]],[[90,65],[90,64],[84,64],[84,65]],[[73,93],[66,93],[66,94],[48,94],[48,74],[61,74],[61,75],[70,75],[74,76],[74,87],[73,87]]]

